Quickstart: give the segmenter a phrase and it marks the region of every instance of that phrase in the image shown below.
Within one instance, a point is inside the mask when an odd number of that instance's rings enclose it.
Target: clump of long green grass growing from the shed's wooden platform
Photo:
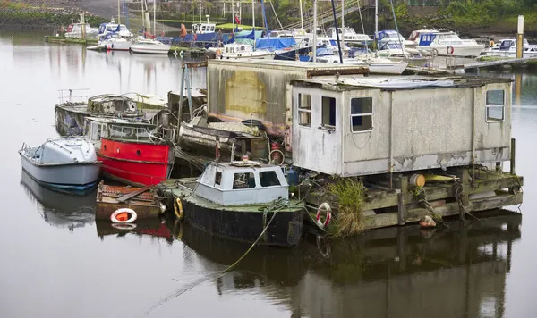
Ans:
[[[338,178],[327,187],[337,197],[337,217],[331,222],[329,234],[334,237],[360,234],[363,230],[362,206],[366,188],[356,178]]]

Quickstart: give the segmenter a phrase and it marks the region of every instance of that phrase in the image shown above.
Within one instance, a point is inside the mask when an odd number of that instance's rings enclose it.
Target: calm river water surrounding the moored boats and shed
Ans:
[[[498,212],[432,234],[412,226],[330,242],[306,235],[294,249],[254,248],[226,274],[247,247],[170,221],[140,222],[128,233],[96,223],[95,193],[41,188],[17,154],[22,142],[55,136],[58,89],[166,97],[179,90],[180,60],[0,31],[0,74],[2,317],[530,317],[537,309],[535,72],[482,72],[516,79],[524,218]],[[193,86],[203,81],[193,73]]]

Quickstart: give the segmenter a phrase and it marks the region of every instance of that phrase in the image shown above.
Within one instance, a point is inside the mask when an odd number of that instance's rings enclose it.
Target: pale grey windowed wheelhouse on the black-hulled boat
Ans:
[[[209,163],[197,180],[194,194],[218,205],[268,204],[288,198],[282,168],[253,161]]]

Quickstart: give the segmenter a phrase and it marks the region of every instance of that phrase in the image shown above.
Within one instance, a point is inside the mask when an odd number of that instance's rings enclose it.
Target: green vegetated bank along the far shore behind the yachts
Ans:
[[[230,23],[231,13],[222,16],[219,4],[211,4],[209,1],[201,1],[205,10],[210,13],[211,21],[218,25]],[[110,12],[107,1],[92,1],[92,7],[85,7],[86,21],[91,26],[109,21],[99,17],[97,12]],[[304,15],[311,15],[312,0],[303,0]],[[329,3],[319,3],[320,12],[330,10]],[[53,28],[66,27],[69,23],[79,20],[81,8],[78,5],[86,3],[71,0],[0,0],[0,28],[23,27],[23,28]],[[164,4],[163,4],[164,5]],[[187,24],[197,21],[197,5],[188,2],[174,3],[175,7],[167,3],[163,6],[159,23],[165,24],[166,28],[178,28],[181,23]],[[246,5],[246,4],[244,4]],[[300,21],[298,0],[273,0],[277,17],[282,25]],[[537,4],[535,0],[395,0],[396,20],[399,31],[408,35],[413,29],[447,28],[459,32],[466,37],[481,37],[484,35],[511,35],[516,34],[517,16],[524,15],[524,33],[527,37],[537,36]],[[101,10],[99,10],[101,9]],[[107,9],[107,10],[105,10]],[[259,13],[260,14],[260,8]],[[251,21],[249,10],[243,10],[243,24],[247,26]],[[159,14],[159,13],[158,13]],[[250,13],[251,14],[251,13]],[[276,23],[274,13],[268,11],[268,24]],[[102,15],[102,14],[101,14]],[[256,17],[257,18],[257,17]],[[371,8],[362,11],[363,24],[367,34],[372,33],[373,10]],[[262,20],[260,20],[262,23]],[[362,33],[362,21],[358,12],[345,15],[345,25],[353,27]],[[326,27],[331,27],[327,25]],[[379,29],[395,29],[390,1],[379,0]]]

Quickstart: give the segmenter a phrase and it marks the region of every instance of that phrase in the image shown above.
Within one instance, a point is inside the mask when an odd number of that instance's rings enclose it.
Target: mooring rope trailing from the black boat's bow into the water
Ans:
[[[267,225],[265,225],[265,228],[261,231],[260,236],[251,244],[251,247],[248,248],[246,252],[244,252],[244,254],[234,262],[234,264],[227,266],[227,268],[223,271],[213,272],[212,274],[209,274],[208,276],[200,278],[200,280],[195,280],[194,282],[192,282],[192,284],[190,284],[187,287],[184,287],[183,289],[176,290],[174,294],[164,297],[158,302],[157,305],[154,305],[151,308],[149,308],[149,310],[143,314],[143,317],[149,316],[149,314],[152,314],[158,308],[162,307],[163,305],[166,305],[167,303],[175,299],[175,297],[179,297],[183,295],[185,292],[200,286],[202,283],[208,280],[218,279],[224,276],[227,272],[232,271],[243,260],[243,258],[246,257],[246,255],[250,253],[251,249],[253,249],[253,247],[255,247],[260,241],[260,239],[265,235],[265,232],[268,230],[268,226],[270,225],[270,223],[272,223],[277,213],[285,209],[286,207],[289,207],[289,201],[285,198],[278,198],[263,209],[264,213],[268,213],[272,210],[274,214],[272,214],[272,217],[270,218],[270,220],[268,220],[268,223]]]

